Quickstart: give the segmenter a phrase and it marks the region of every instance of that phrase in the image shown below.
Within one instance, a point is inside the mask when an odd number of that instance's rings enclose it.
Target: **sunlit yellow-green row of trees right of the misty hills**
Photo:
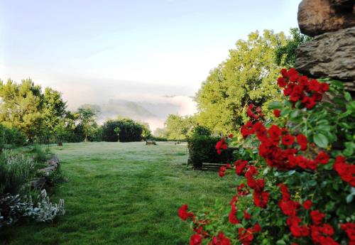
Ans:
[[[295,66],[295,50],[307,40],[310,37],[297,28],[290,29],[290,36],[266,30],[249,34],[248,40],[238,40],[236,48],[229,50],[229,58],[202,82],[195,97],[198,113],[170,115],[165,128],[155,134],[172,140],[186,138],[197,124],[207,126],[214,134],[239,131],[249,104],[266,109],[271,101],[280,100],[274,82],[278,72]]]

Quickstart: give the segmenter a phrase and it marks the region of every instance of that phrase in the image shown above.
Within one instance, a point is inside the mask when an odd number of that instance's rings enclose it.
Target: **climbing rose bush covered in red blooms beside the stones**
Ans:
[[[178,210],[190,244],[355,244],[355,102],[342,82],[280,73],[284,101],[269,104],[272,119],[249,105],[239,160],[219,170],[238,176],[229,204]]]

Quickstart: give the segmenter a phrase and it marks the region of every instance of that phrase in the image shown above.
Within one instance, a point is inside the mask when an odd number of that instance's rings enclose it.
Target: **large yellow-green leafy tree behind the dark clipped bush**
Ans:
[[[214,132],[235,132],[246,119],[244,111],[253,103],[266,106],[278,99],[275,85],[280,66],[275,64],[275,49],[285,45],[283,33],[264,31],[249,34],[229,50],[229,58],[212,70],[196,94],[200,112],[197,121]]]

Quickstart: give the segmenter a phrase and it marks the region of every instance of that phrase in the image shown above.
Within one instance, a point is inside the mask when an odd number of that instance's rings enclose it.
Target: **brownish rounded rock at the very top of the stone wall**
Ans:
[[[354,0],[303,0],[298,6],[301,33],[317,36],[355,26]]]

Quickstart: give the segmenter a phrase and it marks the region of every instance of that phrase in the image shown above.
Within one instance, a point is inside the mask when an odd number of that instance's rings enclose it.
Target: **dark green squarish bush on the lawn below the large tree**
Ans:
[[[189,151],[189,163],[194,168],[202,168],[202,163],[228,163],[232,160],[231,151],[224,151],[221,155],[217,154],[216,143],[220,138],[195,135],[187,139],[187,148]]]

